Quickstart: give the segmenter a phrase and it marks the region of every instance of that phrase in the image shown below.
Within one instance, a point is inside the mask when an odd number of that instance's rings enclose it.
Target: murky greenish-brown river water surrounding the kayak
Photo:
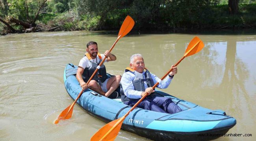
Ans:
[[[88,141],[106,123],[74,106],[69,120],[53,124],[73,100],[63,85],[67,63],[78,65],[89,41],[100,52],[110,49],[118,32],[48,32],[0,37],[0,140]],[[140,33],[121,38],[106,63],[107,72],[121,74],[130,56],[140,53],[145,66],[162,77],[198,36],[204,49],[185,58],[164,89],[173,96],[212,110],[222,109],[237,120],[228,133],[252,137],[220,137],[221,141],[256,139],[255,32]],[[150,135],[149,135],[150,136]],[[121,130],[116,141],[148,141]]]

